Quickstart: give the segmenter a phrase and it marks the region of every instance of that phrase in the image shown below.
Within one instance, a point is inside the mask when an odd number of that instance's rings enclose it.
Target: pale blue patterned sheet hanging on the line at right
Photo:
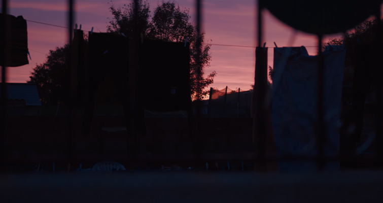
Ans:
[[[325,69],[325,155],[339,155],[339,122],[345,49],[327,46]],[[278,156],[315,158],[318,120],[318,56],[305,47],[274,48],[272,123]],[[280,161],[281,171],[316,171],[315,161]],[[338,170],[339,162],[328,162],[325,170]]]

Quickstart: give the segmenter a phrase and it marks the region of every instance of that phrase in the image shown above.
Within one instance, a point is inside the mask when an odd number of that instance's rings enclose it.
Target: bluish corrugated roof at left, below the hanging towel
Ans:
[[[26,106],[41,106],[39,92],[35,83],[7,83],[7,85],[8,99],[24,99]]]

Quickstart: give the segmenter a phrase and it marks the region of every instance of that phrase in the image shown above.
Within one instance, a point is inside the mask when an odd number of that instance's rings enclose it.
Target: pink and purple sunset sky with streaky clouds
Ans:
[[[153,9],[161,1],[148,1]],[[109,3],[109,4],[108,4]],[[129,4],[131,1],[115,0],[116,7]],[[182,8],[190,8],[192,21],[195,19],[195,0],[178,0]],[[109,11],[111,2],[106,0],[77,0],[75,23],[82,24],[83,30],[106,32],[112,18]],[[44,22],[59,26],[67,26],[66,0],[12,0],[9,1],[9,13],[14,16],[22,15],[26,20]],[[212,44],[256,46],[255,42],[255,1],[252,0],[204,0],[203,1],[203,31],[205,40],[212,40]],[[294,32],[294,29],[283,24],[264,11],[264,41],[270,47],[268,51],[268,65],[273,66],[273,42],[282,46],[314,46],[307,47],[310,55],[317,53],[316,37],[303,32]],[[32,60],[28,65],[10,67],[8,82],[25,82],[30,76],[32,67],[36,63],[43,63],[49,50],[64,45],[67,42],[67,29],[34,22],[27,22],[28,48]],[[292,36],[296,35],[291,44]],[[340,35],[326,36],[339,38]],[[254,83],[255,48],[229,47],[213,45],[211,49],[211,67],[205,73],[217,72],[215,82],[211,87],[223,89],[226,85],[230,89],[250,89]]]

